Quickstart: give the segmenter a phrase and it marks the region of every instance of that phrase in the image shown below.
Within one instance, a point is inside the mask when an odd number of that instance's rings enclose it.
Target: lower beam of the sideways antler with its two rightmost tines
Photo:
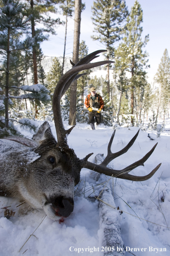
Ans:
[[[137,135],[137,134],[136,134]],[[135,135],[135,136],[136,136]],[[114,137],[114,135],[112,135]],[[137,136],[136,136],[137,137]],[[112,138],[113,139],[113,138]],[[134,139],[134,138],[133,138]],[[130,141],[131,142],[131,141]],[[157,143],[158,144],[158,143]],[[154,175],[154,173],[159,169],[159,167],[161,166],[161,163],[159,165],[157,165],[157,167],[155,169],[152,170],[152,172],[150,172],[148,175],[146,176],[135,176],[135,175],[130,175],[128,174],[128,172],[130,172],[131,170],[137,168],[140,165],[144,165],[144,162],[146,162],[146,160],[149,158],[149,156],[151,156],[151,154],[153,153],[153,151],[155,150],[155,147],[157,146],[157,144],[155,144],[154,147],[152,147],[152,149],[145,155],[143,156],[142,159],[140,159],[137,162],[134,162],[133,164],[127,166],[126,168],[122,169],[122,170],[114,170],[114,169],[109,169],[107,168],[105,165],[100,164],[100,165],[95,165],[94,163],[91,162],[85,162],[84,167],[88,168],[90,170],[93,170],[95,172],[99,172],[99,173],[103,173],[106,174],[108,176],[113,176],[116,178],[121,178],[121,179],[126,179],[126,180],[130,180],[130,181],[146,181],[147,179],[151,178],[152,175]]]

